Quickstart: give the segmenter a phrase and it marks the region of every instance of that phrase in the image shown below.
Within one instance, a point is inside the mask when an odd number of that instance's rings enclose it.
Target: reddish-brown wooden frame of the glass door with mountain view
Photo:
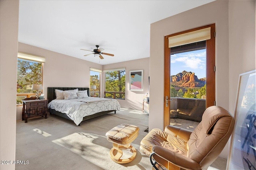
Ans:
[[[165,101],[165,96],[170,96],[170,48],[168,38],[207,27],[211,27],[211,39],[206,40],[206,108],[215,105],[215,23],[167,35],[164,37],[164,127],[170,125],[170,104],[166,107]]]

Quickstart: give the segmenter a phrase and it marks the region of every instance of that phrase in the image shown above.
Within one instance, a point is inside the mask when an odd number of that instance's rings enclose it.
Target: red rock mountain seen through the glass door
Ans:
[[[171,76],[171,84],[179,87],[202,87],[206,83],[205,78],[198,79],[194,72],[182,71]]]

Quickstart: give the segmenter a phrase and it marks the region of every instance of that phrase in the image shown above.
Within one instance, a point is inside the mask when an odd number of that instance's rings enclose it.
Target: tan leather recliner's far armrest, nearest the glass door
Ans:
[[[192,133],[192,131],[187,129],[182,129],[180,127],[167,125],[164,129],[166,133],[169,133],[175,137],[178,137],[180,139],[183,139],[184,141],[188,142],[189,137]]]

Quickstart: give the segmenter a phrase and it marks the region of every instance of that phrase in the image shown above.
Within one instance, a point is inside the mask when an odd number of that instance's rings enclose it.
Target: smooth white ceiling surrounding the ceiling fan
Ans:
[[[18,41],[98,64],[150,57],[150,23],[214,0],[20,0]],[[80,49],[96,49],[100,60]]]

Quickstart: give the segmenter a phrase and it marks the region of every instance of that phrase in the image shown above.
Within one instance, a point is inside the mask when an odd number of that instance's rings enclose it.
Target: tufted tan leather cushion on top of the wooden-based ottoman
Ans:
[[[129,145],[139,134],[135,125],[121,124],[106,133],[107,140],[118,145]]]

